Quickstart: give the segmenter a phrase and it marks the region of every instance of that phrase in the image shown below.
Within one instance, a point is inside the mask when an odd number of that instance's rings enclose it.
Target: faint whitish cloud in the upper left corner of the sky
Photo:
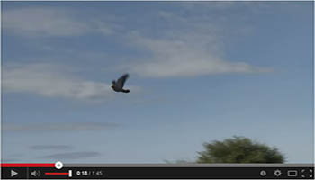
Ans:
[[[97,18],[79,19],[76,12],[49,7],[3,11],[3,27],[23,36],[74,36],[88,32],[111,34],[115,25]]]

